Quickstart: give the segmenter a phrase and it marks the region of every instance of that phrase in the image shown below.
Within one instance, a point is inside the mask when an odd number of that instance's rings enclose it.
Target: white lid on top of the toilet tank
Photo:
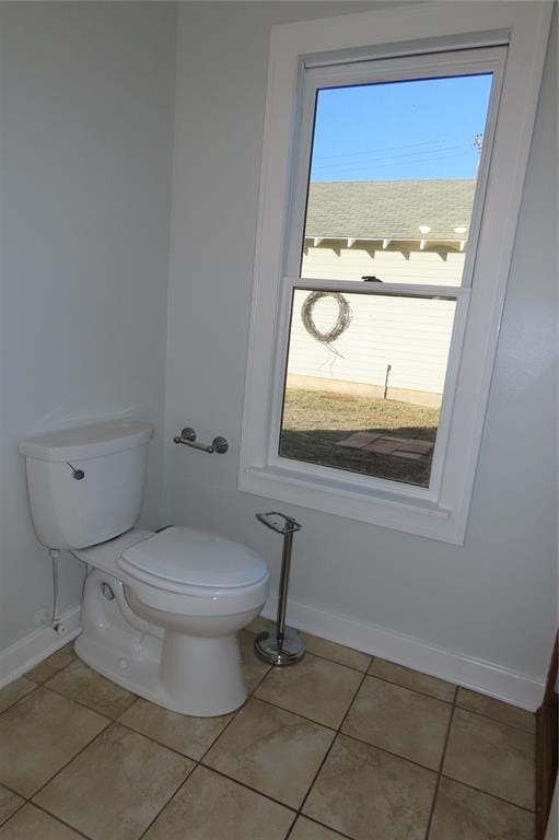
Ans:
[[[150,423],[107,420],[28,438],[20,441],[19,450],[27,458],[39,460],[84,460],[135,448],[152,436]]]

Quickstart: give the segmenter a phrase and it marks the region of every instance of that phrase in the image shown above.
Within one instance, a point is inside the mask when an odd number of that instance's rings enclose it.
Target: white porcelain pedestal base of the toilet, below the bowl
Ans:
[[[88,575],[82,628],[74,650],[86,665],[170,711],[210,718],[246,700],[236,634],[199,638],[150,625],[127,609],[121,582],[106,572]]]

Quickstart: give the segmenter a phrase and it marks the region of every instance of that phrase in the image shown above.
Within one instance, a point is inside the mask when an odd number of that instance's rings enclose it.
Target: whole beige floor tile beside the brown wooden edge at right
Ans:
[[[534,807],[534,736],[456,709],[443,773],[527,808]]]

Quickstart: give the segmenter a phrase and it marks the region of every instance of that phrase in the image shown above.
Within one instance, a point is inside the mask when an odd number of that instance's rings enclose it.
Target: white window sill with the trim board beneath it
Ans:
[[[381,493],[352,486],[350,481],[318,479],[315,475],[288,468],[256,466],[242,470],[238,489],[407,534],[464,544],[464,526],[461,527],[452,511],[405,491]]]

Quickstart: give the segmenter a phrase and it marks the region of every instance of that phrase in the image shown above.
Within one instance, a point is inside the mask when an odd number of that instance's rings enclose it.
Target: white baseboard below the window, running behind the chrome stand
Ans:
[[[271,596],[263,615],[276,618],[277,604],[277,596]],[[446,679],[531,712],[540,705],[544,697],[544,681],[536,677],[455,651],[434,648],[414,637],[356,621],[348,616],[326,612],[307,604],[290,600],[288,622],[307,633]]]

